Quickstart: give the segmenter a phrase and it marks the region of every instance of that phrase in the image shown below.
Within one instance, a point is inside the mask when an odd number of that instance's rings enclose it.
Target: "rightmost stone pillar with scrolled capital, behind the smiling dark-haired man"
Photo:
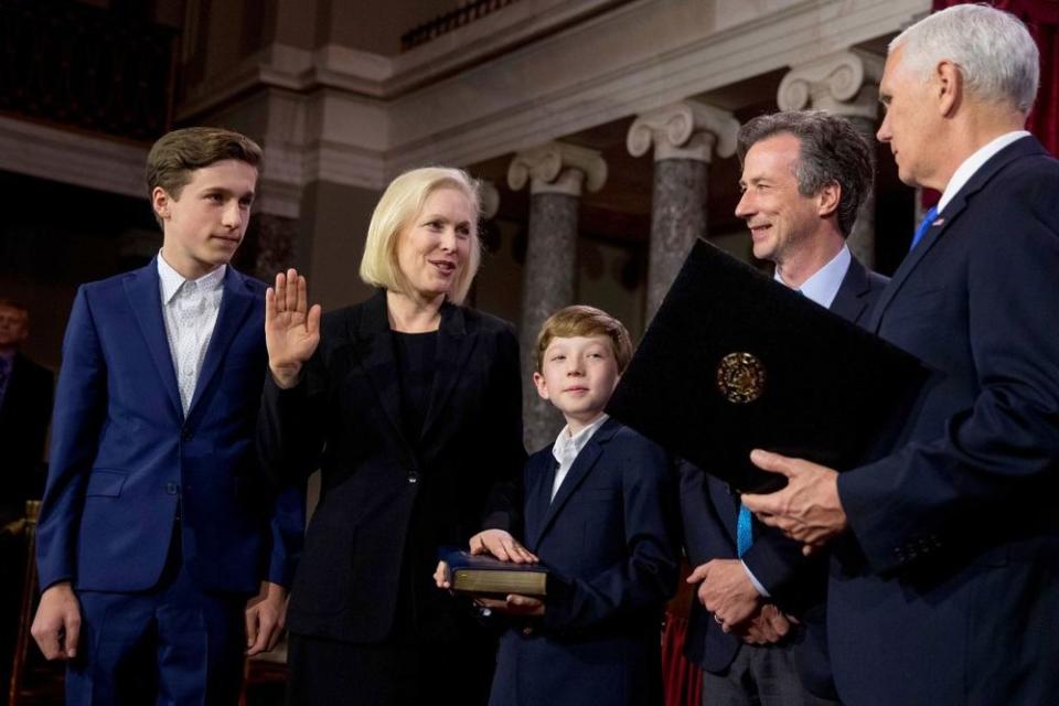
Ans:
[[[781,110],[813,108],[844,116],[873,146],[878,129],[879,79],[885,60],[859,50],[822,56],[796,66],[780,82],[777,103]],[[849,250],[867,267],[875,265],[875,189],[857,213],[848,238]]]

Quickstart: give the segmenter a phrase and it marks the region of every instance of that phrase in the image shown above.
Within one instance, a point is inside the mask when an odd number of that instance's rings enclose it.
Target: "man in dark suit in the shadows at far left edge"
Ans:
[[[44,437],[52,416],[52,371],[20,352],[30,312],[0,299],[0,684],[8,684],[22,596],[25,547],[19,521],[25,501],[44,491]],[[7,530],[7,531],[6,531]]]

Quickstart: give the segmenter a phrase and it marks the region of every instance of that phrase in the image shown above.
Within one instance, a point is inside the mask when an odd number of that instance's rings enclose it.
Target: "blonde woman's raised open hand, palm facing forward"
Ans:
[[[320,304],[309,308],[306,278],[293,268],[276,275],[276,287],[265,291],[268,367],[284,389],[298,383],[302,364],[320,343]]]

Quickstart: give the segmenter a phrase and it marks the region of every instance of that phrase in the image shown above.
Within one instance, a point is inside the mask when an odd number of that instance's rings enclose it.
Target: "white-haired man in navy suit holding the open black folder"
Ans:
[[[878,137],[902,181],[942,196],[869,328],[932,374],[874,462],[751,457],[790,484],[744,502],[833,541],[828,641],[851,704],[1059,693],[1059,162],[1021,130],[1037,84],[1026,28],[988,7],[891,43]]]

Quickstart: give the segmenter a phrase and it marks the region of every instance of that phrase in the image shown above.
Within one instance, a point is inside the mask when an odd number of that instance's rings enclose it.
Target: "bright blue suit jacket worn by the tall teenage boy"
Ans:
[[[228,267],[186,417],[160,300],[153,259],[77,291],[38,528],[41,586],[151,588],[178,503],[183,561],[200,587],[256,592],[265,578],[289,585],[301,493],[277,502],[253,442],[267,370],[264,285]]]

